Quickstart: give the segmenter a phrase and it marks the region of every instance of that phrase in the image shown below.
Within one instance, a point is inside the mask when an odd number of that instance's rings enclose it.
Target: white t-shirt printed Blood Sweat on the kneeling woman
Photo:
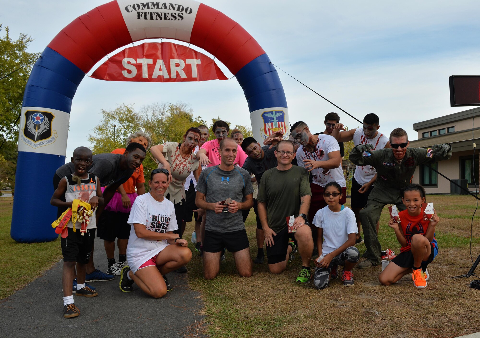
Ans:
[[[135,199],[127,223],[132,225],[127,245],[127,261],[133,273],[169,245],[167,240],[155,241],[138,238],[133,224],[143,224],[147,230],[160,233],[179,229],[173,203],[167,198],[158,202],[150,193],[144,193]]]

